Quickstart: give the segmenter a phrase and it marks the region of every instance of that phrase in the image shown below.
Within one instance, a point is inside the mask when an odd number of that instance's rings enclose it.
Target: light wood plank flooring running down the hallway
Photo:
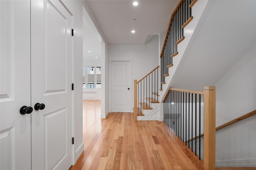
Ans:
[[[133,113],[100,119],[100,101],[83,101],[84,152],[70,170],[203,170],[202,161],[161,121]]]

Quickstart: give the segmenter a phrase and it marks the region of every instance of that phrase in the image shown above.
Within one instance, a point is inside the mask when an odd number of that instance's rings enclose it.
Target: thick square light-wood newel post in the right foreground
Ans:
[[[215,170],[216,91],[204,86],[204,168]]]

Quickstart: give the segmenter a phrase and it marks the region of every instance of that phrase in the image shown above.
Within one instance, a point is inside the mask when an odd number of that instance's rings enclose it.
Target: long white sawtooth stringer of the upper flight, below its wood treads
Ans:
[[[162,84],[162,91],[159,92],[160,98],[159,101],[163,102],[172,82],[172,78],[174,78],[175,74],[178,72],[179,65],[182,62],[182,57],[184,56],[184,53],[186,49],[188,48],[188,43],[191,40],[191,37],[198,25],[198,22],[205,10],[206,4],[208,3],[208,0],[200,0],[197,1],[196,4],[192,7],[192,16],[193,20],[184,28],[184,37],[185,39],[177,45],[177,51],[178,55],[173,57],[172,64],[173,66],[168,68],[168,74],[169,76],[165,77],[165,84]],[[162,111],[161,111],[162,112]],[[163,113],[162,113],[163,114]],[[160,115],[163,116],[163,115]]]

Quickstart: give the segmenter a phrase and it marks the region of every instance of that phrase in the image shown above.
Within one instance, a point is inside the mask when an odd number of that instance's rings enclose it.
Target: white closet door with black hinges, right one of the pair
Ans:
[[[72,17],[57,0],[31,1],[32,169],[72,165]]]

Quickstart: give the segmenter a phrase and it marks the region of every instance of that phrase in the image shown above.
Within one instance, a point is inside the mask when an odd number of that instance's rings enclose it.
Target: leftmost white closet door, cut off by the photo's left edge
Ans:
[[[0,0],[0,169],[31,169],[30,1]]]

